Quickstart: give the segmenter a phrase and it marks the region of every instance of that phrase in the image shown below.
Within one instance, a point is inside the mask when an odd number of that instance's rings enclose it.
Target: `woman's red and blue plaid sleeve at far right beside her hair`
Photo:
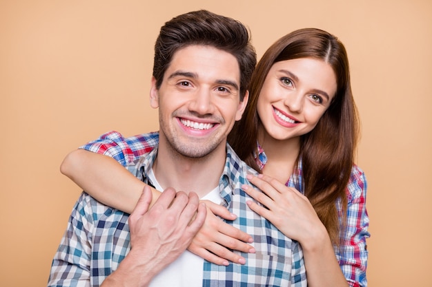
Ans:
[[[335,246],[337,260],[348,284],[353,287],[367,286],[366,266],[368,251],[366,238],[369,216],[366,211],[366,177],[363,171],[353,167],[347,186],[346,226],[342,234],[342,244]]]

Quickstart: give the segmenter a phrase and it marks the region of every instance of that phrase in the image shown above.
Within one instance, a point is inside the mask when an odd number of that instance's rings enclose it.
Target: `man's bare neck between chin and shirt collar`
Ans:
[[[153,172],[162,188],[173,187],[186,193],[195,191],[202,198],[219,184],[225,162],[225,145],[204,158],[187,158],[179,154],[173,156],[164,142],[159,142]]]

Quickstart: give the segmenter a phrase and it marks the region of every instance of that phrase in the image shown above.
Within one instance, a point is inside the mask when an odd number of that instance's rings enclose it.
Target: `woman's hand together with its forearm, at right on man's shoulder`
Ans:
[[[246,184],[242,189],[267,209],[253,201],[247,201],[248,206],[302,245],[308,286],[348,286],[326,228],[308,198],[270,176],[247,178],[262,192]]]

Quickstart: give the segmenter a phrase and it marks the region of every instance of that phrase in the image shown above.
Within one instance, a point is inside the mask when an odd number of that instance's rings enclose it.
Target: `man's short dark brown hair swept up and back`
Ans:
[[[235,56],[240,69],[240,100],[243,100],[257,63],[248,29],[235,19],[206,10],[181,14],[166,22],[155,43],[153,76],[158,89],[175,52],[189,45],[209,45]]]

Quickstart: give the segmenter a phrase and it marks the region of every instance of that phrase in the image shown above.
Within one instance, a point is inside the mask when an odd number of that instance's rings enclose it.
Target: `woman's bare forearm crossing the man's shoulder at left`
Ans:
[[[113,158],[84,149],[69,153],[60,171],[99,202],[127,213],[132,212],[145,185]],[[160,193],[155,189],[152,193],[153,205]]]

